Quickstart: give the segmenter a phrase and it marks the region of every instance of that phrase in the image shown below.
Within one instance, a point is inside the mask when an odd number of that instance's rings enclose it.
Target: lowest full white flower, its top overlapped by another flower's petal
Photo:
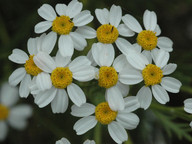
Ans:
[[[108,125],[109,134],[116,143],[122,143],[128,140],[125,129],[135,129],[139,123],[138,116],[132,113],[139,106],[138,99],[134,96],[125,98],[125,109],[122,111],[112,110],[107,102],[102,102],[96,107],[89,103],[85,103],[81,107],[73,105],[71,114],[83,117],[75,123],[73,129],[77,135],[82,135],[99,122]],[[95,116],[92,116],[94,113]]]

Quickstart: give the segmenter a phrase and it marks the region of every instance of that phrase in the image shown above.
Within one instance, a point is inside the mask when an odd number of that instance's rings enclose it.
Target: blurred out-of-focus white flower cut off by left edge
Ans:
[[[19,100],[18,88],[8,83],[2,85],[0,94],[0,141],[3,141],[8,133],[8,125],[17,130],[27,126],[32,108],[27,104],[15,105]]]

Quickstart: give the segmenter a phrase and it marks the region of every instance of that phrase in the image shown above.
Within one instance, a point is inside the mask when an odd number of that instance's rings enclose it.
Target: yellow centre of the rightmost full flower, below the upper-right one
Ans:
[[[159,84],[163,77],[163,71],[153,64],[148,64],[142,71],[143,79],[146,86]]]

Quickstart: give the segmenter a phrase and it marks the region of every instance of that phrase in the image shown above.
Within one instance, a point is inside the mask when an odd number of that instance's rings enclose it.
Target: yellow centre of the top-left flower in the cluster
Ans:
[[[52,31],[60,34],[66,35],[69,34],[74,26],[74,23],[68,16],[60,16],[56,17],[56,19],[52,23]]]

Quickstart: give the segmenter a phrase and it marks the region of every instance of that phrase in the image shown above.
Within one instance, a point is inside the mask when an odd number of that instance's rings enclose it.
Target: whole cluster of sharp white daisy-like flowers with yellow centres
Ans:
[[[93,16],[82,8],[82,3],[72,0],[68,5],[57,4],[55,9],[49,4],[38,9],[44,21],[35,25],[35,33],[43,34],[28,40],[29,56],[20,49],[13,50],[9,60],[24,67],[11,74],[9,83],[12,86],[20,83],[20,97],[32,94],[40,108],[51,104],[53,113],[64,113],[70,99],[74,103],[71,115],[83,117],[74,124],[77,135],[101,123],[107,125],[116,143],[122,143],[128,140],[126,129],[135,129],[139,124],[135,110],[148,109],[152,96],[166,104],[167,91],[179,92],[181,82],[167,76],[177,67],[168,63],[173,42],[159,36],[161,30],[153,11],[144,12],[143,30],[133,16],[122,15],[120,6],[96,9],[101,25],[94,30],[87,26]],[[46,31],[49,33],[45,34]],[[131,44],[127,37],[134,35],[136,43]],[[93,38],[98,42],[92,44],[87,56],[72,59],[74,50],[84,50],[86,39]],[[87,95],[78,85],[93,79],[105,89],[106,101],[99,104],[88,103]],[[130,85],[139,83],[143,86],[136,96],[129,96]],[[56,143],[69,142],[63,138]]]

